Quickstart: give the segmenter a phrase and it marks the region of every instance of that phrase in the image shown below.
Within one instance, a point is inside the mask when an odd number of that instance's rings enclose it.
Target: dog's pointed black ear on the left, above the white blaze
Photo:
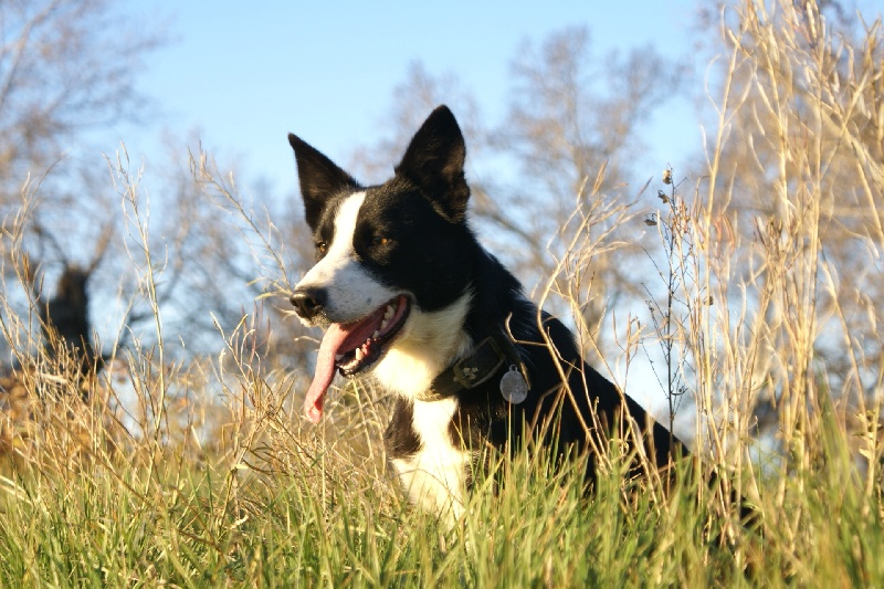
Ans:
[[[288,144],[295,150],[301,196],[304,198],[304,215],[311,229],[315,230],[329,197],[345,190],[358,189],[360,186],[349,173],[301,137],[290,133]]]

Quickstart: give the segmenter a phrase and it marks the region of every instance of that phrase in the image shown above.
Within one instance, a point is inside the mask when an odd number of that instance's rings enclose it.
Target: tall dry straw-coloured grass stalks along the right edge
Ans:
[[[746,2],[722,22],[730,54],[713,98],[708,177],[692,210],[670,217],[687,223],[696,248],[681,296],[707,418],[697,437],[740,465],[750,464],[747,440],[772,435],[774,467],[788,473],[819,465],[825,429],[836,427],[872,497],[884,374],[881,22],[854,40],[813,3],[791,2]]]

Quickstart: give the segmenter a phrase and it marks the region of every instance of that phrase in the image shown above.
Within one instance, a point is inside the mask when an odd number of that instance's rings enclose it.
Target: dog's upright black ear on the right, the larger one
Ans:
[[[463,220],[470,187],[463,173],[466,157],[461,128],[448,106],[439,106],[411,139],[396,173],[415,182],[453,222]]]

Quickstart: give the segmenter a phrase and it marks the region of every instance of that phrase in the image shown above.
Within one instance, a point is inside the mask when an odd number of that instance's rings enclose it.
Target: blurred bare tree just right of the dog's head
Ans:
[[[497,145],[518,161],[523,175],[511,199],[516,207],[494,211],[504,225],[526,227],[550,245],[559,260],[569,243],[569,220],[576,203],[585,202],[583,230],[589,243],[606,246],[571,269],[568,282],[579,276],[579,299],[587,334],[597,346],[607,344],[600,326],[606,307],[624,295],[642,291],[639,238],[643,225],[623,223],[612,207],[629,203],[643,191],[648,177],[631,167],[641,151],[642,125],[667,96],[677,92],[678,67],[653,48],[596,55],[586,28],[568,28],[550,34],[539,48],[526,42],[513,62],[513,103],[497,133]],[[504,212],[506,211],[506,212]],[[503,220],[503,217],[508,217]],[[522,220],[519,222],[519,220]],[[562,234],[565,228],[566,234]],[[524,238],[523,238],[524,239]],[[615,248],[611,245],[617,244]],[[625,259],[638,263],[624,263]],[[538,262],[540,263],[537,266]],[[532,260],[549,274],[549,256]],[[564,286],[562,286],[564,287]],[[571,286],[573,288],[573,286]],[[600,294],[601,293],[601,294]]]

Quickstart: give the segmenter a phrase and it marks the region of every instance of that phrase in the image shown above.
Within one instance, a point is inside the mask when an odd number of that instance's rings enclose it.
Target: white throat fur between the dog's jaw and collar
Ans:
[[[463,325],[470,298],[466,293],[433,312],[412,307],[406,325],[375,367],[378,383],[391,392],[411,397],[427,390],[455,359],[469,355],[472,340]]]

